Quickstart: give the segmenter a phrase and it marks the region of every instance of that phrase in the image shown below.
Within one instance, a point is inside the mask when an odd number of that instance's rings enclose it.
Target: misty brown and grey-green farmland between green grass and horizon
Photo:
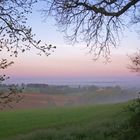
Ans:
[[[8,86],[0,86],[0,90],[6,90]],[[136,88],[122,89],[120,86],[27,84],[24,85],[23,100],[13,106],[14,108],[46,108],[50,106],[119,103],[137,98],[138,92],[139,90]]]

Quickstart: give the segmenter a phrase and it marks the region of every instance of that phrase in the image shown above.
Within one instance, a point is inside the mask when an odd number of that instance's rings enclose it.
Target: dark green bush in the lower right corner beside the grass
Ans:
[[[139,140],[140,139],[140,98],[131,103],[125,112],[130,118],[111,131],[111,135],[117,140]],[[109,134],[109,136],[110,136]]]

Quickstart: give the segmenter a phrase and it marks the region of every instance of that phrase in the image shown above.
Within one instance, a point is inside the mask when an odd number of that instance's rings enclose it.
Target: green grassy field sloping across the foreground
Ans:
[[[0,112],[0,140],[104,140],[128,103]]]

